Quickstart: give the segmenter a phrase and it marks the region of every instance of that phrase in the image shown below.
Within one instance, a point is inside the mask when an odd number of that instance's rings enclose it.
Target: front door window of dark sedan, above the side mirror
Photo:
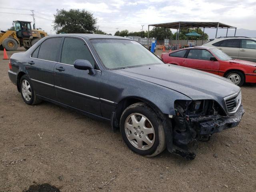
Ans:
[[[77,59],[88,60],[92,66],[95,66],[92,54],[83,40],[77,38],[65,38],[60,62],[73,65]]]

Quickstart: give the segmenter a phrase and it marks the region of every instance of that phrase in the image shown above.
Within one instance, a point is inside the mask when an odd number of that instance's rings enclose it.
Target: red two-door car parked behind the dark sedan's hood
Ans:
[[[224,76],[238,86],[244,82],[256,83],[256,63],[232,59],[217,48],[195,46],[164,53],[161,58],[167,64]]]

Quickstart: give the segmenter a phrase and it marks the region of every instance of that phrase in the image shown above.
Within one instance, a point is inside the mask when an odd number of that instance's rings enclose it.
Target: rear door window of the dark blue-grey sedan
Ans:
[[[58,49],[62,38],[49,38],[42,42],[38,52],[38,59],[57,61]]]

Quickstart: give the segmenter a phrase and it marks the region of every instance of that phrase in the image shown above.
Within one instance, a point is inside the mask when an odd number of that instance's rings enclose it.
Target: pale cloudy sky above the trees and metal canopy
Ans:
[[[33,21],[36,28],[55,34],[52,28],[56,9],[85,9],[97,18],[99,28],[114,34],[117,30],[147,30],[148,24],[176,21],[222,22],[237,28],[256,30],[256,0],[0,0],[0,29],[13,20]]]

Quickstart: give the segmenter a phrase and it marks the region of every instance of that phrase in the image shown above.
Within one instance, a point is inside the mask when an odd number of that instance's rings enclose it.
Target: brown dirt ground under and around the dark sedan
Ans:
[[[240,125],[200,142],[195,160],[167,151],[145,158],[109,123],[49,102],[26,105],[2,57],[0,51],[0,192],[49,185],[50,192],[256,191],[256,86],[242,87]]]

